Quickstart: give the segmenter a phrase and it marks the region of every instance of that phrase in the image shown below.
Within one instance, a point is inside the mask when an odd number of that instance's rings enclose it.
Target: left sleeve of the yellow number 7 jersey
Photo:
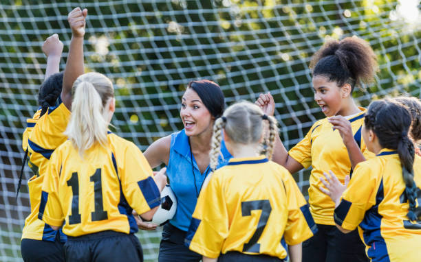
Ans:
[[[215,177],[200,193],[185,243],[190,250],[203,256],[216,258],[228,236],[228,211],[224,190]]]

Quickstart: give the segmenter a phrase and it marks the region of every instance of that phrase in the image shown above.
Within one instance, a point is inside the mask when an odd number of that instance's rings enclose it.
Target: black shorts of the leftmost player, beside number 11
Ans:
[[[25,262],[64,262],[65,253],[63,245],[60,242],[60,234],[56,235],[56,241],[54,242],[22,239],[22,259]]]

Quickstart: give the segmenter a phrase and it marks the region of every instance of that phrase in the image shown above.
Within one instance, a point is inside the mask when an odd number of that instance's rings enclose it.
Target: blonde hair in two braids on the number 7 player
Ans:
[[[265,150],[266,157],[272,158],[274,143],[277,136],[277,119],[264,115],[259,106],[250,102],[238,102],[229,106],[222,117],[215,121],[210,150],[210,168],[215,170],[218,163],[219,150],[222,142],[222,129],[234,143],[258,143],[263,133],[263,121],[269,123],[268,139]],[[262,145],[260,145],[263,148]]]

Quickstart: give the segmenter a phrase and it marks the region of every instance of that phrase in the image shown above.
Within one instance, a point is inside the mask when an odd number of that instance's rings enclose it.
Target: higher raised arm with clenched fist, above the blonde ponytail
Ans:
[[[72,86],[79,75],[85,73],[83,68],[83,36],[85,36],[85,18],[87,10],[75,8],[67,16],[70,28],[72,29],[72,40],[70,40],[69,56],[63,75],[63,89],[61,99],[69,109],[72,108]]]

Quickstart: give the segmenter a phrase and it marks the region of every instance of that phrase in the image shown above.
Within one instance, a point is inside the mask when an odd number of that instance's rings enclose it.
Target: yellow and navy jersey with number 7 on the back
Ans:
[[[211,258],[237,251],[286,260],[286,244],[299,244],[316,230],[287,169],[265,156],[231,158],[200,193],[185,243]]]

